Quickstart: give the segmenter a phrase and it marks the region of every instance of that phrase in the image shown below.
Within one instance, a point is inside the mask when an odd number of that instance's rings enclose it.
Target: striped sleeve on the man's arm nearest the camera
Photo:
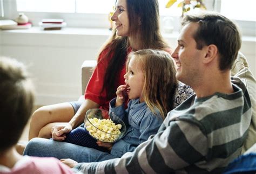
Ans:
[[[170,124],[122,158],[79,163],[76,168],[85,173],[165,173],[185,168],[204,158],[207,145],[202,144],[207,144],[207,138],[201,129],[186,121]]]

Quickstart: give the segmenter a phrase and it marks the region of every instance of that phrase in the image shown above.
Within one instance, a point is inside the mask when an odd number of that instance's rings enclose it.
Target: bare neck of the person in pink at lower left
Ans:
[[[11,169],[21,158],[22,155],[19,155],[15,147],[12,147],[3,153],[1,152],[0,164]]]

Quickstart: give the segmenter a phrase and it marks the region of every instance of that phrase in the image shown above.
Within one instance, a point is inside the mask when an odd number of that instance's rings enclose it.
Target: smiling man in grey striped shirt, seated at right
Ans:
[[[244,83],[230,77],[241,47],[237,26],[217,13],[186,16],[172,57],[193,96],[172,110],[158,133],[122,158],[79,163],[88,173],[219,173],[238,157],[250,125]],[[64,160],[72,166],[72,161]]]

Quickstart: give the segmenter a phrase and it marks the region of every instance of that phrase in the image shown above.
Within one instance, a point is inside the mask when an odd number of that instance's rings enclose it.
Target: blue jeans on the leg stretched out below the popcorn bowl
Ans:
[[[23,155],[55,157],[58,159],[71,158],[78,163],[99,162],[117,158],[117,156],[113,156],[108,152],[45,138],[33,138],[30,140],[28,145],[26,145]]]

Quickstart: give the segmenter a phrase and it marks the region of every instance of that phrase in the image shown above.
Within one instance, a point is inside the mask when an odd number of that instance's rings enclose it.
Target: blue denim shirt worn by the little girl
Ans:
[[[132,99],[125,109],[124,104],[116,107],[116,98],[110,101],[110,113],[117,115],[126,125],[126,133],[121,140],[113,144],[110,154],[122,157],[126,152],[132,152],[136,147],[147,141],[157,133],[163,123],[160,112],[152,113],[145,102],[140,103],[139,99]]]

